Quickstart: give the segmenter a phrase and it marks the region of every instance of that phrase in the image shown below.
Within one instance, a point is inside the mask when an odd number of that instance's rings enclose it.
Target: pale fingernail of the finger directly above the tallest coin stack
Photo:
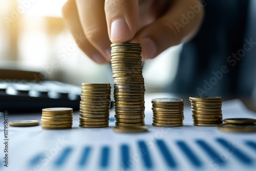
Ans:
[[[111,24],[111,36],[110,36],[111,41],[118,41],[124,38],[125,36],[127,36],[129,32],[130,30],[125,20],[116,19]]]

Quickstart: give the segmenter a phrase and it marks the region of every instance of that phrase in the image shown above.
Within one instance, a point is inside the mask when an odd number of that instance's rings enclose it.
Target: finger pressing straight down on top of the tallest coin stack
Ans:
[[[138,0],[106,0],[105,15],[112,43],[130,41],[138,23]]]

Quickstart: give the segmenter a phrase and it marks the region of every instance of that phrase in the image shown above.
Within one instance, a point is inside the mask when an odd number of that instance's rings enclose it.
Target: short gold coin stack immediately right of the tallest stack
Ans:
[[[153,126],[158,127],[177,127],[183,126],[182,99],[175,98],[157,98],[152,99]]]

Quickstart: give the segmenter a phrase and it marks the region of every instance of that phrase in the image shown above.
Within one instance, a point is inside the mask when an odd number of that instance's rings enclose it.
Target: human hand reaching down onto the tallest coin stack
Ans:
[[[68,0],[62,13],[79,48],[106,63],[112,43],[138,42],[142,57],[152,59],[191,39],[203,20],[202,6],[199,0]]]

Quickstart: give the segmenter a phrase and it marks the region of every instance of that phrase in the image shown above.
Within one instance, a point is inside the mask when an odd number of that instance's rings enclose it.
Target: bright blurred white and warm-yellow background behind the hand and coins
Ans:
[[[0,69],[39,71],[44,79],[76,86],[81,82],[113,83],[110,64],[98,65],[75,44],[61,16],[65,2],[0,0]],[[146,92],[161,92],[173,81],[181,47],[145,62]]]

